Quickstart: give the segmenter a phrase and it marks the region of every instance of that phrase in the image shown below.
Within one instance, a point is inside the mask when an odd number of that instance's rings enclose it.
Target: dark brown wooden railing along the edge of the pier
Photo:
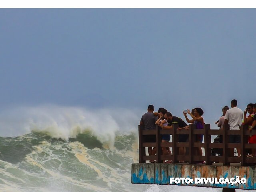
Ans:
[[[170,130],[162,130],[156,125],[154,130],[144,130],[144,126],[139,126],[139,161],[145,163],[146,160],[156,160],[157,163],[162,163],[164,160],[172,160],[174,163],[178,163],[180,160],[184,160],[189,164],[196,161],[205,161],[206,165],[211,165],[213,162],[222,162],[223,165],[229,165],[230,163],[241,163],[241,166],[249,165],[248,163],[256,163],[256,157],[246,157],[246,149],[256,149],[256,144],[248,144],[248,136],[256,134],[256,130],[251,132],[248,130],[248,126],[241,126],[240,130],[230,130],[229,125],[224,125],[222,130],[210,129],[210,124],[205,124],[204,129],[196,129],[194,124],[189,125],[188,130],[177,130],[178,125],[172,125]],[[162,134],[170,134],[172,142],[161,142]],[[188,142],[178,142],[179,134],[188,134]],[[204,142],[194,142],[194,135],[203,134]],[[156,135],[156,142],[144,142],[146,135]],[[212,143],[211,135],[222,135],[222,143]],[[230,135],[240,135],[240,143],[229,143]],[[156,155],[146,156],[146,147],[156,147]],[[172,155],[162,155],[162,147],[172,148]],[[188,149],[187,155],[178,154],[179,147],[186,147]],[[204,148],[204,156],[195,155],[194,148]],[[212,156],[212,148],[221,148],[222,156]],[[230,148],[240,148],[241,157],[230,155]]]

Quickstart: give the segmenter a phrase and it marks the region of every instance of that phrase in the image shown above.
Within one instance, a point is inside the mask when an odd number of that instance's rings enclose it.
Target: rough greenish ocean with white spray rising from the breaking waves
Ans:
[[[138,162],[142,113],[52,105],[3,110],[0,191],[205,191],[199,187],[131,184],[131,164]]]

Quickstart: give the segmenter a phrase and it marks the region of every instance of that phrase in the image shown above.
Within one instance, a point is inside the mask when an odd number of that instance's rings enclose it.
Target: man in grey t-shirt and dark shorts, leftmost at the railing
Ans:
[[[142,115],[142,118],[140,120],[140,126],[144,126],[145,130],[155,129],[156,128],[156,120],[158,119],[153,114],[154,106],[149,105],[148,106],[148,112]],[[156,136],[155,135],[145,135],[144,136],[144,142],[156,142]],[[148,148],[148,154],[149,155],[155,155],[156,154],[156,148]],[[154,161],[150,161],[154,162]]]

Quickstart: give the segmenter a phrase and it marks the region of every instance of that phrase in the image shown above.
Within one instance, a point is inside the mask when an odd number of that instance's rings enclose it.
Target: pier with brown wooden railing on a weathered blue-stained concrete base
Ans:
[[[139,163],[132,164],[131,181],[133,184],[170,184],[170,178],[246,178],[245,184],[176,184],[185,186],[201,186],[223,188],[223,191],[235,189],[256,190],[256,157],[246,157],[246,149],[256,148],[256,144],[248,144],[247,138],[256,134],[250,132],[248,126],[241,126],[240,130],[229,130],[225,125],[223,130],[210,129],[210,124],[205,124],[204,129],[198,130],[195,125],[189,125],[188,130],[177,130],[177,125],[172,125],[170,130],[162,130],[158,126],[154,130],[144,130],[139,126]],[[161,143],[161,134],[170,134],[172,142]],[[178,142],[178,134],[188,134],[188,142]],[[203,134],[204,142],[194,142],[194,135]],[[156,135],[156,142],[144,142],[145,135]],[[212,143],[212,135],[222,135],[222,143]],[[229,135],[241,135],[241,143],[229,143]],[[146,147],[156,147],[156,155],[147,156]],[[172,155],[162,155],[162,147],[172,148]],[[186,155],[179,155],[178,148],[186,147]],[[196,156],[194,148],[204,148],[203,156]],[[222,149],[222,156],[212,156],[212,148]],[[229,148],[240,148],[241,157],[229,155]],[[146,163],[147,160],[156,160],[156,163]],[[172,164],[163,163],[172,160]],[[180,164],[179,160],[187,163]],[[194,164],[196,161],[205,161],[205,164]],[[175,183],[174,183],[175,184]]]

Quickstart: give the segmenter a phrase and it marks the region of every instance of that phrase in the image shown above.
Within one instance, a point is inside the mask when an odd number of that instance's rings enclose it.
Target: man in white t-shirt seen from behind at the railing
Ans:
[[[242,124],[243,111],[240,108],[237,108],[237,100],[233,99],[231,101],[231,109],[227,110],[226,115],[224,116],[224,124],[229,124],[230,130],[239,130]],[[230,143],[240,143],[241,136],[240,135],[230,135],[229,136]],[[238,157],[241,155],[241,149],[236,148]],[[230,153],[234,155],[234,149],[230,149]]]

